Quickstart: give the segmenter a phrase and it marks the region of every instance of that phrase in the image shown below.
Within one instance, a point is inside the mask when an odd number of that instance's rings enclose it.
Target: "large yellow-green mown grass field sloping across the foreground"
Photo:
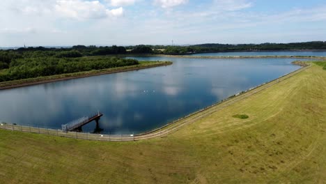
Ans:
[[[326,183],[325,91],[326,70],[313,64],[146,141],[0,130],[0,183]]]

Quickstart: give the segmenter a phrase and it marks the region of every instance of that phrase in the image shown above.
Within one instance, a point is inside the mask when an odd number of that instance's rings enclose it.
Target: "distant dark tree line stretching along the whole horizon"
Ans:
[[[301,49],[326,49],[326,42],[306,43],[262,43],[262,44],[218,44],[207,43],[201,45],[171,46],[171,45],[133,45],[97,47],[95,45],[75,45],[68,48],[21,47],[19,49],[0,50],[0,67],[6,68],[5,63],[15,58],[54,56],[54,57],[81,57],[105,56],[116,54],[191,54],[203,52],[237,52],[237,51],[281,51]]]

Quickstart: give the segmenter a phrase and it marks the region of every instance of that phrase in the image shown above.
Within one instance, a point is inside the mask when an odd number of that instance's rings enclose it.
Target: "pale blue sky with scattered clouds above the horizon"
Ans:
[[[323,0],[2,0],[0,47],[326,40]]]

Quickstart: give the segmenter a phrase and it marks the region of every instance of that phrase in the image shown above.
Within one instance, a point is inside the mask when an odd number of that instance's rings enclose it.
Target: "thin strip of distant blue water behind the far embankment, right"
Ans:
[[[293,52],[293,51],[281,51],[281,52],[217,52],[217,53],[201,53],[201,54],[189,54],[189,56],[326,56],[326,52]]]

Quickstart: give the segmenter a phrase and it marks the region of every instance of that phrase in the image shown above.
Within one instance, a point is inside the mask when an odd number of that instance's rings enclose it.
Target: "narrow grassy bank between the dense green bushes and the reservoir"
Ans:
[[[36,77],[31,79],[20,79],[10,82],[0,82],[0,90],[1,89],[10,89],[20,86],[29,86],[33,84],[42,84],[47,82],[56,82],[60,80],[66,80],[66,79],[75,79],[75,78],[81,78],[81,77],[90,77],[94,75],[104,75],[109,73],[115,73],[115,72],[126,72],[131,70],[140,70],[144,68],[153,68],[157,66],[168,66],[171,65],[172,62],[170,61],[139,61],[138,65],[134,66],[123,66],[123,67],[117,67],[117,68],[107,68],[102,70],[91,70],[91,71],[85,71],[85,72],[74,72],[74,73],[67,73],[67,74],[61,74],[61,75],[52,75],[52,76],[46,76],[46,77]]]

